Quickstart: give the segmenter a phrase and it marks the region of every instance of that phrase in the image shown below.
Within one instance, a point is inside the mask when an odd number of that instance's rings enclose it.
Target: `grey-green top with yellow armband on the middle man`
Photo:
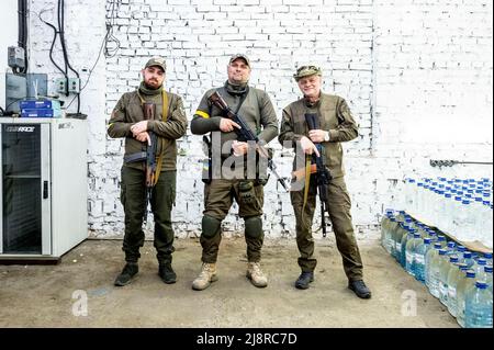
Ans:
[[[235,112],[240,103],[240,94],[232,94],[226,82],[224,87],[207,90],[201,99],[195,114],[191,122],[191,132],[195,135],[204,135],[210,132],[220,132],[220,120],[223,117],[222,111],[211,105],[209,97],[214,91],[218,91],[228,106]],[[259,139],[269,143],[278,135],[278,118],[269,95],[259,89],[248,88],[247,95],[243,102],[238,114],[244,117],[250,129],[258,135]],[[235,132],[221,134],[221,145],[226,142],[238,139]],[[231,153],[224,151],[222,156],[227,157]]]

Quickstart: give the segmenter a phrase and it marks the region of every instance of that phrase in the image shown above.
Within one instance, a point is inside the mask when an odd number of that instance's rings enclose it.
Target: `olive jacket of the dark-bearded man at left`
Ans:
[[[148,122],[148,131],[158,136],[157,155],[162,155],[161,171],[177,170],[177,142],[176,139],[186,135],[187,116],[183,109],[182,98],[178,94],[167,92],[168,117],[162,120],[162,93],[155,95],[137,93],[138,90],[122,95],[113,109],[109,121],[108,135],[110,137],[125,137],[125,156],[146,150],[146,144],[138,142],[132,136],[131,126],[144,121],[141,97],[146,102],[156,104],[155,120]],[[124,166],[145,169],[145,162],[130,162]]]

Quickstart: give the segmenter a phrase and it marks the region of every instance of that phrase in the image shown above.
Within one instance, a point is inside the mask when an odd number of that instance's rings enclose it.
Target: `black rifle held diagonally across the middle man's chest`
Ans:
[[[216,105],[223,112],[223,115],[225,117],[227,117],[227,118],[234,121],[235,123],[237,123],[238,125],[240,125],[240,128],[234,127],[235,133],[239,136],[239,140],[243,140],[243,142],[254,140],[254,142],[256,142],[257,151],[259,153],[259,155],[262,158],[268,160],[268,168],[277,177],[277,180],[281,183],[283,189],[285,191],[288,191],[287,182],[284,181],[283,178],[281,178],[278,174],[277,166],[272,161],[272,158],[269,155],[268,150],[265,147],[259,145],[259,137],[257,137],[257,135],[250,129],[250,127],[247,125],[247,123],[244,121],[244,118],[238,113],[235,113],[234,111],[232,111],[232,109],[225,102],[225,100],[220,94],[220,92],[215,91],[209,99],[214,105]]]

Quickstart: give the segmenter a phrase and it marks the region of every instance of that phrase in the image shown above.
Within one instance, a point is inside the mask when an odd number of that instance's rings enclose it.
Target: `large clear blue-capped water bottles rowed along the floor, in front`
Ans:
[[[405,211],[388,210],[382,245],[396,261],[448,307],[461,327],[493,327],[492,253],[479,253]]]

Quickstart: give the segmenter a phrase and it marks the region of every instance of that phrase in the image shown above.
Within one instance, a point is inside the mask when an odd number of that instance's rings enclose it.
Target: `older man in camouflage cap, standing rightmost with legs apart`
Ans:
[[[297,147],[303,153],[296,153],[301,158],[317,154],[315,144],[321,144],[326,167],[332,179],[327,184],[327,212],[336,236],[337,248],[343,257],[348,287],[361,298],[371,297],[371,292],[363,283],[362,260],[353,234],[350,215],[350,196],[347,192],[343,165],[343,148],[340,143],[349,142],[358,136],[358,126],[350,113],[347,102],[337,95],[323,93],[322,70],[316,66],[302,66],[296,69],[293,78],[299,84],[303,99],[290,103],[283,110],[279,142],[284,147]],[[305,114],[315,115],[319,129],[308,129]],[[302,155],[301,155],[302,154]],[[308,156],[310,157],[310,156]],[[295,163],[305,163],[294,161]],[[296,169],[294,169],[296,170]],[[307,173],[307,172],[303,172]],[[299,266],[302,270],[295,286],[301,290],[308,287],[314,281],[314,269],[317,260],[314,258],[314,240],[312,222],[316,206],[316,173],[310,176],[308,192],[292,191],[291,203],[296,219],[296,244],[300,251]]]

